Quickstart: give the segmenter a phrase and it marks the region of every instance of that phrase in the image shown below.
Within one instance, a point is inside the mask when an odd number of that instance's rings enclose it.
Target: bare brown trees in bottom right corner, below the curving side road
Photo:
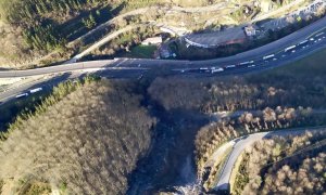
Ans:
[[[325,165],[325,154],[319,153],[321,151],[311,152],[315,147],[309,147],[318,146],[316,143],[325,138],[326,133],[321,131],[255,142],[243,154],[234,193],[318,194],[323,192],[321,187],[325,185],[325,181],[321,166]],[[325,151],[325,146],[316,148]],[[319,153],[318,160],[306,156],[308,153],[312,156]],[[300,170],[300,174],[296,173],[296,170]]]

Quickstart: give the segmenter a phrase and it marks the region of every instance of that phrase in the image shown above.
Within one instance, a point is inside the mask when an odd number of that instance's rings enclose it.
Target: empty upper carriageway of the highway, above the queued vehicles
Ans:
[[[321,35],[323,34],[324,35]],[[316,35],[321,35],[316,37]],[[115,60],[106,60],[106,61],[93,61],[93,62],[82,62],[82,63],[72,63],[64,64],[58,66],[50,66],[43,68],[35,68],[35,69],[26,69],[26,70],[1,70],[0,78],[10,78],[10,77],[27,77],[35,75],[43,75],[43,74],[53,74],[53,73],[67,73],[75,72],[87,68],[105,68],[110,69],[139,69],[139,68],[158,68],[164,67],[165,69],[173,70],[187,70],[187,69],[196,69],[196,68],[211,68],[211,67],[223,67],[224,70],[227,66],[235,65],[236,68],[243,68],[241,63],[243,62],[253,62],[251,67],[256,67],[262,63],[262,58],[264,56],[275,54],[275,55],[285,55],[283,57],[275,57],[275,61],[271,62],[269,66],[283,65],[288,62],[298,60],[300,56],[304,57],[305,55],[314,52],[316,50],[321,50],[325,48],[326,40],[326,17],[321,18],[319,21],[293,32],[290,34],[277,41],[271,42],[263,47],[242,52],[233,56],[215,58],[215,60],[206,60],[206,61],[174,61],[174,60],[146,60],[146,58],[115,58]],[[300,42],[308,40],[309,48],[303,48],[303,46],[299,46]],[[284,50],[291,46],[298,46],[297,49],[292,51],[297,51],[298,49],[305,49],[305,52],[301,52],[300,56],[296,53],[288,53]],[[265,64],[266,65],[266,64]],[[248,66],[247,66],[248,67]],[[244,72],[252,72],[256,68],[247,68]],[[234,74],[233,72],[229,72]],[[241,70],[243,73],[243,70]]]

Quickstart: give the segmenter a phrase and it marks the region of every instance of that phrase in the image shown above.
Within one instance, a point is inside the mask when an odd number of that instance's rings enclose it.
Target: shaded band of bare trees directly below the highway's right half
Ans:
[[[277,106],[319,108],[326,104],[323,74],[324,69],[313,78],[287,73],[222,79],[158,78],[149,92],[166,109],[185,106],[208,114]]]

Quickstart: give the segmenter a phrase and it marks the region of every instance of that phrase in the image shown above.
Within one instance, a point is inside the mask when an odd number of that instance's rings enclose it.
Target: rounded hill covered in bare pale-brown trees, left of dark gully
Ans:
[[[2,194],[124,194],[154,125],[128,87],[85,83],[12,129],[0,145]]]

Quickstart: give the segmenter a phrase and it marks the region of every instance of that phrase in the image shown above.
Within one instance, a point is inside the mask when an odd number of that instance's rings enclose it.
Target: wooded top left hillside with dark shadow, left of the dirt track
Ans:
[[[181,0],[176,4],[208,4],[206,0],[196,2]],[[0,66],[20,68],[23,65],[26,67],[26,64],[45,65],[49,63],[48,61],[66,60],[79,49],[68,48],[67,42],[126,11],[160,3],[171,2],[0,0],[0,44],[3,46],[0,51]],[[101,34],[105,32],[108,31]]]

